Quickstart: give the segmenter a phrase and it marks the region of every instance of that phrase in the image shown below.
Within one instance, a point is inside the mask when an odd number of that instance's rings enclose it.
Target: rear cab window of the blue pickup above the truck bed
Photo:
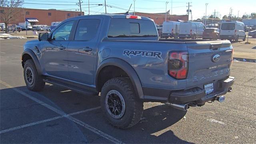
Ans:
[[[153,21],[137,19],[112,19],[108,30],[109,38],[157,37]]]

